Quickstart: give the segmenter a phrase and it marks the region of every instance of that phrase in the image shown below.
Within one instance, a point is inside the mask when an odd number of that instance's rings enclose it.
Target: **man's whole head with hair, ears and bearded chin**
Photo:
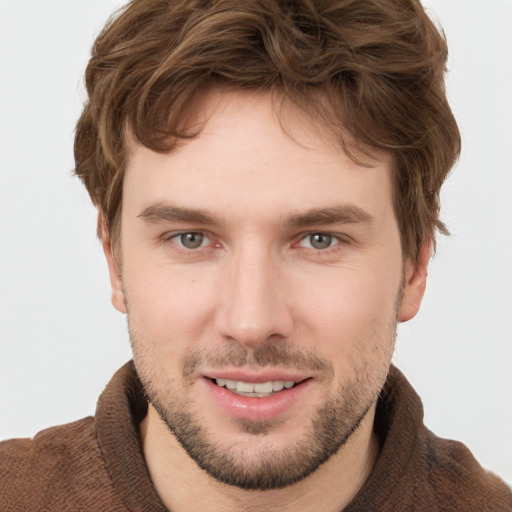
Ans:
[[[219,480],[289,485],[373,410],[444,230],[446,55],[414,0],[134,0],[98,37],[76,173],[152,407]]]

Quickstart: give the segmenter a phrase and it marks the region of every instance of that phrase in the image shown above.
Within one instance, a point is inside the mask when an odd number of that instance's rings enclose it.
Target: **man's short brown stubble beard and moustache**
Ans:
[[[314,353],[297,352],[279,342],[270,341],[252,353],[236,344],[222,354],[210,357],[204,353],[189,355],[183,370],[183,382],[188,383],[183,386],[185,391],[163,391],[155,384],[157,379],[151,365],[147,364],[148,359],[138,350],[145,345],[144,342],[137,339],[133,332],[131,340],[135,365],[146,397],[170,432],[190,458],[211,477],[246,490],[269,490],[292,485],[338,453],[377,401],[389,369],[389,362],[381,362],[378,368],[369,368],[363,363],[361,371],[356,372],[350,382],[340,386],[334,398],[317,409],[306,432],[286,448],[277,449],[270,442],[264,442],[264,436],[271,434],[273,429],[279,429],[279,421],[237,420],[239,431],[254,439],[254,444],[258,446],[255,450],[251,441],[244,447],[240,442],[238,445],[233,443],[226,446],[213,439],[215,432],[210,432],[205,422],[193,412],[193,403],[187,393],[194,368],[204,361],[214,364],[222,361],[224,365],[239,367],[247,364],[302,369],[308,367],[315,368],[316,374],[322,376],[327,386],[334,374],[331,363]]]

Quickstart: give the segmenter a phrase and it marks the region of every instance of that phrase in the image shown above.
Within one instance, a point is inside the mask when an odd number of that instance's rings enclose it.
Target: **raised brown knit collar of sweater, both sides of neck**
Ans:
[[[133,512],[168,512],[144,461],[139,424],[146,413],[142,385],[130,361],[114,375],[98,400],[96,435],[107,471],[126,506]],[[367,482],[343,512],[388,509],[397,495],[404,504],[404,491],[414,486],[411,468],[419,469],[422,464],[423,407],[395,367],[391,367],[381,393],[375,428],[381,442],[379,457]]]

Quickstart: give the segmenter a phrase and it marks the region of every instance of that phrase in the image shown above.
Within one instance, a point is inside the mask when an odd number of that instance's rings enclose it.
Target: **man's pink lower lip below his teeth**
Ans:
[[[309,388],[311,380],[305,380],[291,389],[283,389],[266,397],[241,396],[205,378],[206,386],[215,402],[232,418],[247,421],[277,419],[290,410]]]

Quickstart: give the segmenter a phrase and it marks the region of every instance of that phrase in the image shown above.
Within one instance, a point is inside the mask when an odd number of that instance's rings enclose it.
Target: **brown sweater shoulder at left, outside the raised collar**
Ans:
[[[0,510],[93,510],[98,500],[116,501],[92,417],[0,443]]]

